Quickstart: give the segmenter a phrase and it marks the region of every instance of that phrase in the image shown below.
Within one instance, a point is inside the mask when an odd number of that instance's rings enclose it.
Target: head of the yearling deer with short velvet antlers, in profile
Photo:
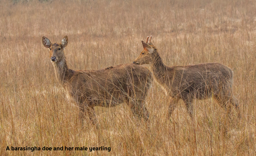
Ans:
[[[150,64],[152,63],[152,57],[151,55],[155,52],[154,45],[151,44],[152,36],[147,37],[146,43],[144,41],[142,42],[143,50],[139,54],[139,56],[133,61],[134,64]]]

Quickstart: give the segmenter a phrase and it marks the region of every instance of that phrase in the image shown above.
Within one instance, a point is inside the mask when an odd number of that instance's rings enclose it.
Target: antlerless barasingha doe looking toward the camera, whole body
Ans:
[[[63,52],[68,42],[67,36],[61,43],[54,44],[48,38],[42,38],[43,46],[50,50],[57,80],[66,90],[67,97],[78,103],[80,118],[87,113],[98,128],[94,106],[112,107],[125,102],[133,113],[149,119],[143,104],[152,81],[148,69],[136,64],[120,64],[101,70],[71,70]]]

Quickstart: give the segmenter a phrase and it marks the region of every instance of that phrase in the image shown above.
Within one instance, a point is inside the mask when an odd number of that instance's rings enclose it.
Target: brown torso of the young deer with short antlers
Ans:
[[[220,91],[230,91],[232,86],[232,70],[223,64],[203,63],[171,68],[174,76],[169,86],[174,95],[204,99]]]

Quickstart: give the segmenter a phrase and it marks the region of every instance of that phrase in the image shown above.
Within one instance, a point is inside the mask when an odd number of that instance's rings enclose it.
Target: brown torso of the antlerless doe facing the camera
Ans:
[[[148,69],[120,64],[102,70],[75,71],[67,90],[75,101],[111,107],[134,97],[145,99],[151,80]]]

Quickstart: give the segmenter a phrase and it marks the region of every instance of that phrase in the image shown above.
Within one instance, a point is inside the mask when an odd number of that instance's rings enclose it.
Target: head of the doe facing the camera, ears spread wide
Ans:
[[[52,44],[48,38],[44,36],[42,38],[43,46],[50,50],[49,54],[52,62],[59,62],[65,59],[63,50],[68,45],[68,43],[69,43],[68,36],[65,36],[64,38],[62,38],[61,43],[54,43],[54,44]]]

